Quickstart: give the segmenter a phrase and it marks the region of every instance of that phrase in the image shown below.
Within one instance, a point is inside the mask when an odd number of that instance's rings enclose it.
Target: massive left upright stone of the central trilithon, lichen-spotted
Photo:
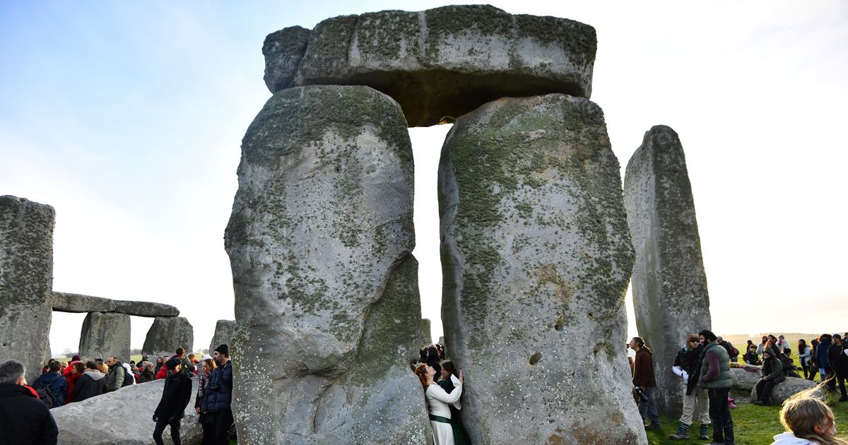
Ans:
[[[225,235],[240,441],[427,442],[412,187],[403,114],[376,90],[282,90],[256,116]]]

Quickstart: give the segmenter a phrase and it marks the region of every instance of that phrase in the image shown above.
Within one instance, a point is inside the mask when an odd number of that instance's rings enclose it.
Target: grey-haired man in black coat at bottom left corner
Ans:
[[[8,360],[0,364],[0,431],[10,445],[53,445],[59,429],[47,406],[26,386],[24,364]]]

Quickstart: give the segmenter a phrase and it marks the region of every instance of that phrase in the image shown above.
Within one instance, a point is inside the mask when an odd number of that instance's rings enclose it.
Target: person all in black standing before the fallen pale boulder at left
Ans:
[[[165,426],[170,425],[170,438],[176,445],[180,445],[180,420],[192,398],[192,378],[182,372],[179,359],[170,359],[165,366],[170,377],[165,379],[162,399],[153,412],[153,421],[156,422],[153,440],[157,445],[163,445],[162,432]]]

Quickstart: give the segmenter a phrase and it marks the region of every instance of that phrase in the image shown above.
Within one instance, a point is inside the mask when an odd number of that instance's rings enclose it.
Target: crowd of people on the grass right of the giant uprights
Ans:
[[[848,333],[845,333],[848,337]],[[801,339],[797,345],[801,366],[796,367],[789,357],[792,350],[783,335],[762,337],[762,343],[755,345],[750,340],[745,348],[745,364],[759,366],[760,380],[756,383],[755,404],[769,402],[773,388],[786,377],[804,377],[813,380],[820,376],[825,392],[836,392],[839,382],[841,397],[839,402],[848,401],[845,394],[845,379],[848,375],[848,348],[840,334],[823,334],[812,340],[811,345]],[[645,430],[661,429],[660,417],[654,403],[656,376],[654,373],[653,351],[645,345],[641,337],[633,337],[628,343],[636,353],[633,359],[633,392],[639,403],[639,414]],[[685,345],[675,356],[672,371],[681,378],[683,409],[678,430],[669,436],[672,440],[689,439],[689,429],[693,424],[695,411],[698,411],[699,437],[712,440],[712,445],[733,444],[734,423],[730,408],[735,408],[730,397],[732,378],[731,363],[737,362],[739,350],[730,342],[716,336],[712,331],[704,330],[689,334]],[[734,365],[739,366],[739,365]],[[756,368],[753,368],[756,370]],[[814,388],[814,390],[817,388]],[[799,407],[804,407],[801,413]],[[775,444],[836,444],[848,445],[848,442],[836,437],[834,417],[825,403],[817,398],[816,391],[796,394],[784,402],[781,421],[787,431],[774,437]],[[712,437],[708,426],[712,425]],[[790,442],[790,437],[796,442]]]

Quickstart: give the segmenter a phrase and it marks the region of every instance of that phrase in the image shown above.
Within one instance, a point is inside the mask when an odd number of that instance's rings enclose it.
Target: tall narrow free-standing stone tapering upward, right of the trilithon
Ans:
[[[624,175],[624,206],[636,249],[636,327],[654,350],[655,365],[671,364],[689,333],[711,327],[692,187],[683,146],[671,128],[645,132]],[[657,408],[670,417],[683,409],[677,381],[670,365],[656,365]]]

